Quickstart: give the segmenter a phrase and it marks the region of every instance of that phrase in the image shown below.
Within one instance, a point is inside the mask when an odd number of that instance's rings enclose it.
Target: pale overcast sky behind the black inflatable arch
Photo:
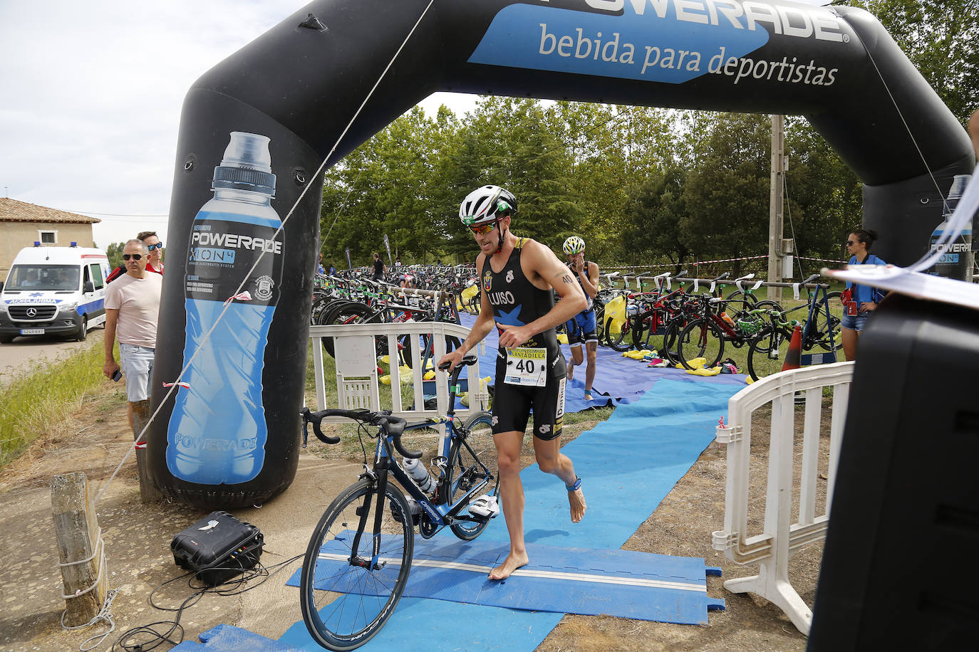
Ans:
[[[98,217],[102,247],[144,230],[165,241],[187,89],[306,4],[0,0],[0,192]],[[443,103],[461,115],[475,97],[422,106]]]

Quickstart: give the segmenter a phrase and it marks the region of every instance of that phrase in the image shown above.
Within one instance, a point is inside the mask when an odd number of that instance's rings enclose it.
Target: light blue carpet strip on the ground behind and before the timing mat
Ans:
[[[619,363],[617,367],[621,369],[629,369],[630,365],[645,369],[642,373],[662,371],[621,358]],[[710,444],[718,419],[727,412],[727,400],[744,386],[743,380],[739,376],[704,378],[676,369],[670,371],[670,375],[657,379],[652,391],[633,395],[629,403],[623,401],[608,420],[562,448],[583,479],[588,502],[583,522],[570,522],[567,492],[560,480],[541,473],[536,464],[521,472],[527,500],[525,538],[529,545],[620,548]],[[449,532],[432,541],[457,542]],[[507,543],[502,518],[494,519],[476,541]],[[532,561],[539,565],[552,563],[536,557]],[[298,595],[296,600],[298,604]],[[406,597],[398,603],[384,630],[363,649],[533,650],[561,618],[562,614],[557,613]],[[473,627],[473,623],[480,626]],[[289,646],[287,649],[320,649],[302,621],[287,630],[279,643]],[[193,649],[198,652],[198,648]],[[210,643],[204,647],[207,652],[242,649],[212,647]],[[280,648],[247,649],[278,652]]]

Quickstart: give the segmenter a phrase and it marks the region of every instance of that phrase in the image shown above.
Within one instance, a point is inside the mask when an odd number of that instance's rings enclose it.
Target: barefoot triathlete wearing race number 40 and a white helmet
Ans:
[[[554,326],[583,310],[584,295],[554,252],[533,239],[513,235],[510,220],[516,212],[516,198],[498,186],[473,191],[459,207],[459,217],[480,245],[476,270],[481,309],[462,346],[439,361],[440,365],[458,365],[495,323],[499,352],[492,431],[510,554],[489,572],[490,580],[504,580],[528,563],[520,449],[532,408],[534,452],[540,470],[564,481],[573,523],[582,520],[585,509],[582,480],[575,474],[571,459],[560,451],[565,361],[554,333]],[[561,297],[557,305],[551,288]]]

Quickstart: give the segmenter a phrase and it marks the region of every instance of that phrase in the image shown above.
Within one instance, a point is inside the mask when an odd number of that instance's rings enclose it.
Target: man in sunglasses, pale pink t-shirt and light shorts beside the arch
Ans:
[[[125,376],[129,401],[129,424],[135,430],[133,412],[149,408],[150,383],[153,381],[153,356],[157,348],[157,316],[163,276],[146,271],[149,250],[138,239],[131,239],[122,249],[126,273],[106,286],[106,364],[102,372],[112,378],[119,370],[113,353],[118,337],[119,359]]]

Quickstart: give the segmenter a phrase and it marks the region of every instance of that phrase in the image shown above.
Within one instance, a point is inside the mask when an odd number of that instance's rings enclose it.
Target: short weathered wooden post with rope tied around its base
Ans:
[[[65,598],[65,625],[84,625],[102,609],[108,589],[95,499],[88,491],[85,474],[67,473],[51,478],[51,505],[58,537],[58,557],[63,564],[64,594],[77,594]],[[86,590],[92,586],[95,587]]]

